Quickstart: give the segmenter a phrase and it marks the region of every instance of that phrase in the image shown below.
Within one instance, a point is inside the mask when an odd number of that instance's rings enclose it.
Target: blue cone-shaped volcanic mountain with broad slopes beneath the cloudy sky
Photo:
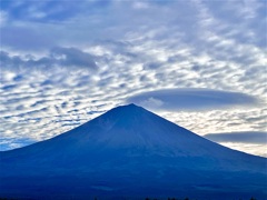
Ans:
[[[0,152],[0,198],[267,199],[267,159],[231,150],[141,107]]]

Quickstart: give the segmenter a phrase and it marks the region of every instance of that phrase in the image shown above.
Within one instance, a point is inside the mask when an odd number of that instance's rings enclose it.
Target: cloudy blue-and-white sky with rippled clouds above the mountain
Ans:
[[[0,0],[0,149],[134,102],[267,157],[266,0]]]

